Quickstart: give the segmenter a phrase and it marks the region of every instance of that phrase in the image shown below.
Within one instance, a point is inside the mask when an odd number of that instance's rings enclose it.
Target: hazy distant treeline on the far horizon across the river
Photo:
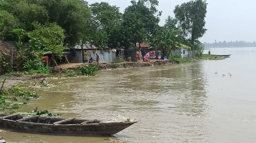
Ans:
[[[215,43],[203,43],[205,47],[256,47],[256,42],[246,42],[246,41],[230,41],[230,42],[216,42]]]

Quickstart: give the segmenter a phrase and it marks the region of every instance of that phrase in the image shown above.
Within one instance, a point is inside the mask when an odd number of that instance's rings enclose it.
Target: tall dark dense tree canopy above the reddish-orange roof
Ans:
[[[149,39],[158,27],[161,11],[158,12],[156,6],[159,4],[157,0],[132,0],[132,5],[125,9],[123,14],[123,26],[125,37],[136,35],[130,39],[129,45],[136,45]],[[135,22],[132,24],[132,22]],[[131,33],[132,32],[132,33]],[[145,37],[146,35],[146,37]],[[131,37],[132,38],[132,37]]]

